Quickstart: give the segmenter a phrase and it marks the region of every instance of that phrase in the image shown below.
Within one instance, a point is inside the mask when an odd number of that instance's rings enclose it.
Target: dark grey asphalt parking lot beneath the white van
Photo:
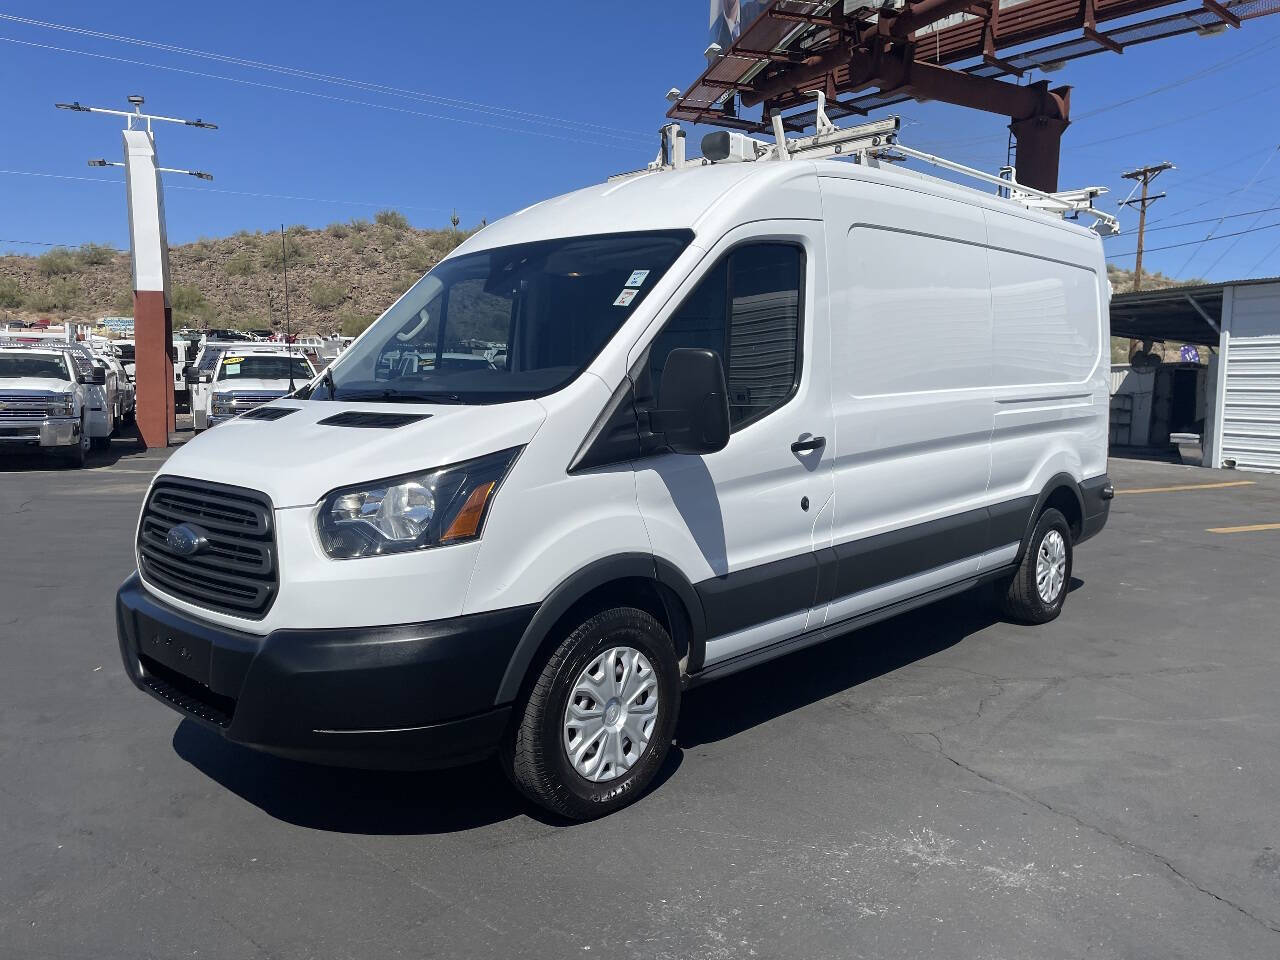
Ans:
[[[129,686],[161,460],[0,460],[0,956],[1280,955],[1280,529],[1235,530],[1280,477],[1114,461],[1055,623],[959,598],[694,691],[658,788],[562,826]]]

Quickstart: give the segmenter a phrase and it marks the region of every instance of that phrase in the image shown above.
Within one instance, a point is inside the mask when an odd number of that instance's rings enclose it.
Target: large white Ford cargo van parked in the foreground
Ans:
[[[1112,493],[1107,298],[1094,233],[870,164],[538,204],[164,463],[125,667],[239,744],[495,753],[608,813],[691,685],[980,584],[1059,614]],[[449,362],[475,339],[503,362]]]

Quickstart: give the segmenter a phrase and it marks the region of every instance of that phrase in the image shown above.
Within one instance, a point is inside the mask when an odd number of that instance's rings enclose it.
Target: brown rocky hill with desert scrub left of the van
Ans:
[[[420,230],[396,210],[285,230],[289,315],[298,333],[356,334],[468,232]],[[284,329],[279,233],[247,230],[170,247],[174,326]],[[0,324],[133,312],[129,255],[88,243],[0,256]]]

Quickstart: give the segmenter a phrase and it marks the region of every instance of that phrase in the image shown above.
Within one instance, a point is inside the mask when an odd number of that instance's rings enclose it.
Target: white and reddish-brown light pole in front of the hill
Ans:
[[[133,335],[136,343],[134,380],[138,388],[137,424],[147,447],[168,447],[173,431],[173,308],[169,298],[169,242],[165,236],[164,188],[161,173],[180,173],[202,180],[212,177],[202,170],[175,170],[160,166],[152,123],[180,123],[184,127],[218,129],[201,119],[183,120],[142,113],[143,99],[131,96],[132,110],[82,106],[79,101],[55,104],[59,110],[110,114],[125,118],[124,163],[90,160],[90,166],[123,166],[129,202],[129,253],[133,261]]]

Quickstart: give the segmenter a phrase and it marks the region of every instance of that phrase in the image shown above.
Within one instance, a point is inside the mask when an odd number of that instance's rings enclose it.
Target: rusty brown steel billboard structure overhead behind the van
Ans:
[[[1028,70],[1272,13],[1280,0],[712,0],[708,67],[667,115],[763,132],[780,111],[803,131],[815,122],[805,109],[814,91],[831,118],[937,100],[1009,116],[1023,182],[1056,191],[1070,87],[1019,84]],[[740,106],[763,106],[762,119]]]

